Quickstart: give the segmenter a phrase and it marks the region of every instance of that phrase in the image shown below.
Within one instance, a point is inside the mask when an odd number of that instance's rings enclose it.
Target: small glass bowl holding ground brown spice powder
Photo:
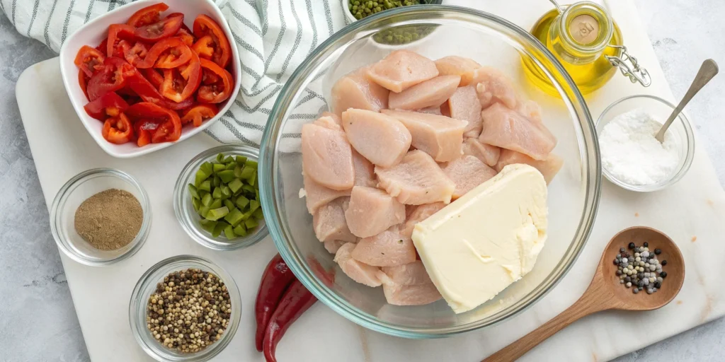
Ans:
[[[89,169],[58,191],[51,233],[66,256],[89,266],[129,258],[146,242],[151,204],[141,184],[117,169]]]

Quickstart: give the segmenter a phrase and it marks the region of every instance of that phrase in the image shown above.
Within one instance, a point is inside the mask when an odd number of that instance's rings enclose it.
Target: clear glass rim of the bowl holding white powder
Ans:
[[[600,114],[599,118],[597,118],[597,138],[599,137],[599,126],[604,121],[605,116],[607,116],[610,111],[612,111],[616,106],[619,106],[620,104],[623,104],[626,101],[634,101],[641,98],[647,98],[650,100],[653,100],[655,102],[658,102],[660,104],[663,104],[665,106],[668,106],[670,109],[674,110],[676,109],[676,106],[672,104],[670,101],[667,101],[664,98],[660,98],[658,96],[653,96],[650,94],[634,94],[631,96],[626,96],[623,98],[619,98],[616,101],[613,101],[612,104],[607,106],[607,108],[602,111],[602,114]],[[625,190],[635,191],[639,193],[650,193],[653,191],[663,190],[665,188],[670,187],[671,185],[674,185],[679,180],[684,177],[685,174],[689,171],[689,168],[692,166],[692,160],[695,159],[695,131],[692,130],[692,125],[689,122],[689,118],[685,114],[684,110],[680,112],[680,114],[677,115],[676,119],[682,124],[682,127],[684,128],[685,133],[685,139],[686,143],[684,144],[684,147],[686,147],[687,154],[685,155],[684,164],[682,164],[682,167],[680,167],[677,172],[668,179],[666,182],[660,182],[659,184],[655,185],[631,185],[627,182],[624,182],[622,180],[619,180],[617,177],[615,177],[613,174],[611,174],[605,167],[602,167],[602,174],[604,174],[604,177],[607,178],[610,182],[612,182],[614,185],[619,186],[620,188],[624,188]],[[603,127],[603,126],[602,126]]]

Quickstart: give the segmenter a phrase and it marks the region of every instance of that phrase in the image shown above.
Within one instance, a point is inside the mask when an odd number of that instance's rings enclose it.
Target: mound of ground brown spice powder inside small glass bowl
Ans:
[[[75,210],[75,231],[100,250],[128,245],[141,230],[144,211],[133,194],[115,188],[101,191]]]

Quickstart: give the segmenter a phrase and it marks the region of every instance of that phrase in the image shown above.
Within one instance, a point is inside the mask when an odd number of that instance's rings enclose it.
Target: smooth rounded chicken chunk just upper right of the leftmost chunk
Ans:
[[[413,140],[397,119],[374,111],[348,109],[342,113],[342,127],[355,151],[382,167],[400,162]]]

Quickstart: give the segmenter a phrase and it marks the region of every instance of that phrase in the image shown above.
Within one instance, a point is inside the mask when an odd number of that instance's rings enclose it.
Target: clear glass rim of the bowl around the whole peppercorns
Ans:
[[[149,346],[149,344],[153,340],[146,338],[146,334],[144,334],[146,325],[138,324],[138,316],[140,314],[146,313],[147,303],[145,300],[141,300],[141,298],[143,297],[143,295],[146,294],[147,290],[155,287],[155,285],[159,282],[159,279],[152,279],[152,277],[157,276],[156,274],[158,274],[159,271],[162,271],[162,269],[165,269],[167,266],[173,264],[179,264],[180,266],[183,265],[183,268],[186,269],[194,267],[202,269],[204,271],[212,271],[212,273],[214,273],[222,282],[224,282],[224,285],[227,287],[227,290],[229,292],[229,301],[233,309],[232,315],[227,324],[227,328],[225,329],[220,340],[212,343],[210,347],[204,348],[204,350],[200,350],[199,352],[188,353],[186,355],[183,355],[182,358],[167,360],[163,355],[159,355],[153,348]],[[163,279],[163,277],[165,277],[167,274],[168,272],[162,273],[160,277]],[[239,308],[234,308],[235,305],[238,305]],[[236,334],[237,329],[239,329],[242,308],[244,308],[244,306],[242,305],[241,295],[239,294],[239,287],[236,285],[236,282],[234,281],[234,278],[231,276],[231,274],[229,274],[225,269],[213,263],[207,258],[202,258],[201,256],[177,255],[159,261],[158,263],[151,266],[148,270],[146,270],[144,274],[142,274],[141,277],[138,278],[138,282],[136,282],[136,285],[133,287],[133,292],[131,292],[131,296],[128,302],[128,323],[130,324],[133,338],[136,340],[139,347],[141,347],[141,349],[144,350],[147,355],[151,356],[155,360],[177,362],[202,362],[209,361],[211,358],[214,358],[229,345],[234,337],[234,334]],[[201,353],[205,354],[200,355]]]

